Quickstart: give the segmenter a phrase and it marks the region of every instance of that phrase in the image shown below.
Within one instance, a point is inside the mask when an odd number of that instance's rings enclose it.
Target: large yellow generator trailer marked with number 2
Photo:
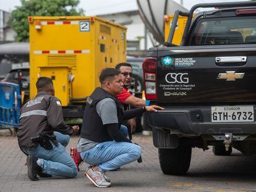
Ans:
[[[126,62],[126,27],[100,17],[28,17],[30,98],[39,77],[53,80],[64,117],[82,117],[105,67]]]

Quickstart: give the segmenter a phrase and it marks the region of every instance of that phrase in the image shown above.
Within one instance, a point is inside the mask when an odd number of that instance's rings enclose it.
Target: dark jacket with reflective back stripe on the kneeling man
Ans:
[[[53,131],[71,135],[73,128],[64,123],[61,101],[41,91],[20,109],[20,125],[17,132],[20,148],[35,149],[30,140],[39,133],[46,133],[54,144],[58,144]]]

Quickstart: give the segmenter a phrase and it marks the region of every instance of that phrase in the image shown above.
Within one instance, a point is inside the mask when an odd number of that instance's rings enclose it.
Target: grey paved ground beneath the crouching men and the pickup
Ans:
[[[67,147],[75,146],[73,137]],[[143,162],[108,172],[110,188],[96,188],[83,176],[87,164],[81,166],[74,179],[41,178],[32,182],[27,178],[25,155],[20,152],[12,136],[0,137],[0,191],[256,191],[256,157],[244,157],[234,151],[229,157],[214,156],[211,150],[193,149],[192,162],[186,176],[164,175],[158,164],[157,149],[150,136],[135,135],[142,146]]]

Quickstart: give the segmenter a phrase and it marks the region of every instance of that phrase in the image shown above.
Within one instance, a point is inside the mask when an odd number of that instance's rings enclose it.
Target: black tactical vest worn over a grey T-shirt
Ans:
[[[113,141],[113,139],[108,134],[108,130],[106,130],[106,127],[103,125],[100,115],[98,115],[98,112],[96,111],[96,104],[105,98],[111,98],[116,103],[117,118],[120,128],[124,114],[121,102],[107,91],[98,87],[87,98],[87,104],[83,114],[83,124],[80,134],[81,138],[99,143],[105,141]]]

